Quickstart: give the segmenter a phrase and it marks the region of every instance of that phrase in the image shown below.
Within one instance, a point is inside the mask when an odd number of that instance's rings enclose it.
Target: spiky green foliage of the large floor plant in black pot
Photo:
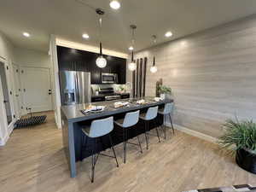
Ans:
[[[220,145],[223,148],[245,149],[253,155],[256,155],[256,124],[253,120],[236,121],[226,120],[224,124],[224,135],[219,137]]]

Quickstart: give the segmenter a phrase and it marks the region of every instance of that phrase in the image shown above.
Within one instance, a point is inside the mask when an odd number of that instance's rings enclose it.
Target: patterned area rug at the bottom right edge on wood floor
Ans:
[[[256,192],[256,187],[249,185],[249,184],[240,184],[234,185],[232,187],[224,187],[224,188],[212,188],[212,189],[195,189],[195,190],[187,190],[183,192]]]

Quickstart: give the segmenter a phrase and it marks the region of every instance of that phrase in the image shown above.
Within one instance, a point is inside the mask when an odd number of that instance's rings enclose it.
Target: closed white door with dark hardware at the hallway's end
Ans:
[[[49,68],[20,67],[23,102],[32,112],[52,110]]]

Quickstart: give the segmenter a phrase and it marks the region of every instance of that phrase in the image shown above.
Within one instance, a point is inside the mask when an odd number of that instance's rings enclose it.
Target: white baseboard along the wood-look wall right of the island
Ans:
[[[170,123],[166,123],[166,126],[170,126],[171,127],[171,124]],[[208,135],[206,135],[204,133],[201,133],[199,131],[190,130],[187,127],[184,127],[184,126],[181,126],[181,125],[176,125],[176,124],[174,124],[173,127],[174,127],[174,129],[176,129],[178,131],[183,131],[184,133],[187,133],[187,134],[189,134],[191,136],[194,136],[194,137],[199,137],[199,138],[204,139],[204,140],[206,140],[208,142],[211,142],[211,143],[217,143],[218,142],[218,138],[208,136]]]

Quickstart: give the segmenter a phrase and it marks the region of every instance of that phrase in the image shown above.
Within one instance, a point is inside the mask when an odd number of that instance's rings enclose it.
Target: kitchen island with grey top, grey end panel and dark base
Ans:
[[[142,99],[142,98],[140,98]],[[86,151],[83,151],[83,143],[84,139],[89,139],[89,137],[84,138],[84,134],[81,129],[84,125],[90,125],[91,121],[94,119],[102,119],[107,118],[109,116],[113,116],[114,119],[123,118],[125,113],[140,110],[141,113],[145,112],[147,108],[160,106],[163,107],[167,102],[173,102],[170,99],[166,99],[163,101],[155,102],[154,97],[145,97],[143,98],[146,102],[144,104],[137,104],[138,99],[133,99],[128,107],[125,108],[114,108],[114,102],[129,102],[130,100],[118,100],[111,102],[96,102],[96,103],[84,103],[70,106],[62,106],[61,107],[61,124],[62,124],[62,139],[63,146],[65,148],[65,153],[67,156],[67,162],[70,168],[71,177],[76,177],[76,162],[79,160],[83,160],[84,158],[91,155],[90,147],[86,148]],[[81,110],[88,108],[90,104],[93,105],[102,105],[105,106],[105,109],[100,113],[81,113]],[[163,117],[158,116],[157,120],[154,121],[154,124],[150,124],[150,128],[152,129],[155,126],[160,125],[163,122]],[[144,130],[144,126],[142,122],[139,122],[138,129],[134,129],[129,133],[129,138],[136,137],[137,135],[142,134]],[[102,127],[102,129],[104,129]],[[118,127],[114,127],[111,135],[113,137],[113,144],[117,145],[123,142],[122,131]],[[90,141],[88,142],[90,146]],[[110,143],[108,139],[102,137],[102,147],[98,148],[98,151],[105,150],[110,147]]]

